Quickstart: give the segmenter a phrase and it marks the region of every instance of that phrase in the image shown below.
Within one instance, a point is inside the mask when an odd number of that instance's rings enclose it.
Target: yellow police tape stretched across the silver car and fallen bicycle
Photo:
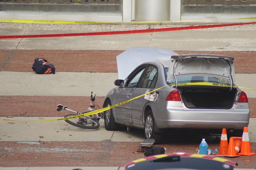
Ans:
[[[219,86],[219,87],[231,87],[230,85],[228,84],[220,84],[220,83],[208,83],[208,82],[195,82],[195,83],[179,83],[177,84],[177,86],[185,86],[185,85],[199,85],[199,86]],[[170,85],[166,85],[166,86],[175,86],[175,84],[170,84]],[[163,86],[163,87],[166,87],[166,86]],[[91,111],[91,112],[87,112],[87,113],[83,113],[83,114],[78,114],[76,116],[72,116],[72,117],[65,117],[65,118],[60,118],[60,119],[52,119],[52,120],[31,120],[31,121],[21,121],[21,120],[10,120],[10,119],[2,119],[0,118],[0,120],[6,120],[6,121],[17,121],[17,122],[47,122],[47,121],[59,121],[59,120],[68,120],[68,119],[74,119],[74,118],[79,118],[79,117],[85,117],[85,116],[90,116],[90,115],[93,115],[93,114],[97,114],[97,113],[101,113],[101,112],[105,112],[109,109],[112,109],[114,107],[117,107],[119,105],[122,105],[122,104],[125,104],[127,102],[130,102],[132,100],[135,100],[135,99],[138,99],[142,96],[145,96],[147,94],[150,94],[154,91],[157,91],[163,87],[159,87],[155,90],[152,90],[150,92],[147,92],[145,94],[142,94],[140,96],[137,96],[137,97],[134,97],[133,99],[129,99],[129,100],[126,100],[126,101],[123,101],[121,103],[118,103],[118,104],[114,104],[114,105],[111,105],[109,107],[105,107],[105,108],[102,108],[102,109],[98,109],[98,110],[95,110],[95,111]],[[233,86],[233,88],[244,88],[244,89],[249,89],[249,90],[256,90],[254,88],[246,88],[246,87],[238,87],[238,86]]]

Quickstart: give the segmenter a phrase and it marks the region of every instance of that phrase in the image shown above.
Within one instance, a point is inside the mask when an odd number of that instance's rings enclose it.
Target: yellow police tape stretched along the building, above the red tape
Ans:
[[[233,18],[219,20],[240,20],[240,19],[256,19],[251,18]],[[0,19],[0,22],[7,23],[36,23],[36,24],[109,24],[109,23],[177,23],[177,22],[195,22],[203,20],[185,20],[185,21],[133,21],[133,22],[84,22],[84,21],[52,21],[52,20],[26,20],[26,19]]]

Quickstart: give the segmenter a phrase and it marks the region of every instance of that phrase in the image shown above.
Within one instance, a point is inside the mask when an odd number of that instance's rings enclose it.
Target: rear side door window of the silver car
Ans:
[[[142,75],[139,82],[139,88],[154,88],[157,83],[157,68],[149,66],[145,73]]]

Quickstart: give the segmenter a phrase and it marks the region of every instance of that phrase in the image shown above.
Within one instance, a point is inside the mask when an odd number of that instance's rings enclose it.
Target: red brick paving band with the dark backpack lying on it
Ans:
[[[32,71],[35,58],[46,58],[62,72],[117,72],[113,50],[0,50],[1,71]],[[255,51],[175,51],[178,54],[218,54],[234,57],[235,73],[256,73]]]

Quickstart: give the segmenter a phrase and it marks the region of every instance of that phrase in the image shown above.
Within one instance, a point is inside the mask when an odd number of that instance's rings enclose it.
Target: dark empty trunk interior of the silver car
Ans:
[[[182,101],[187,108],[230,109],[237,95],[237,88],[178,86]]]

